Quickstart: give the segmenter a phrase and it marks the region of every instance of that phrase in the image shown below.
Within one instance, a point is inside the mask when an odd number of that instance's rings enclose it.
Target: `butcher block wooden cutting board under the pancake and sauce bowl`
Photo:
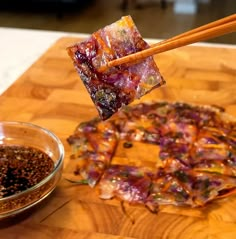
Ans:
[[[4,239],[235,238],[236,196],[204,208],[162,206],[152,214],[140,205],[101,200],[97,189],[67,182],[74,162],[66,141],[97,111],[65,48],[80,39],[61,38],[0,96],[0,120],[32,122],[53,131],[65,147],[63,178],[40,205],[0,221]],[[141,99],[186,101],[224,107],[236,117],[236,49],[187,46],[155,56],[167,84]],[[146,150],[118,152],[116,160],[146,160]],[[137,148],[138,149],[138,148]],[[157,151],[156,151],[157,152]],[[152,157],[155,157],[153,153]],[[131,159],[132,158],[132,159]]]

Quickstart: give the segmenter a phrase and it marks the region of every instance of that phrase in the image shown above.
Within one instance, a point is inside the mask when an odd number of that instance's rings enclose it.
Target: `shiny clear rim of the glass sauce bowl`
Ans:
[[[36,130],[39,130],[39,131],[42,131],[43,133],[49,135],[51,138],[53,138],[55,140],[55,142],[57,143],[58,145],[58,149],[59,149],[59,159],[58,161],[56,162],[55,166],[54,166],[54,169],[51,171],[51,173],[46,176],[45,178],[43,178],[40,182],[38,182],[37,184],[35,184],[34,186],[30,187],[30,188],[27,188],[26,190],[22,191],[22,192],[19,192],[19,193],[16,193],[16,194],[13,194],[11,196],[8,196],[8,197],[3,197],[3,198],[0,198],[0,203],[1,202],[4,202],[4,201],[8,201],[8,200],[13,200],[13,199],[16,199],[18,197],[21,197],[23,196],[24,194],[28,194],[30,192],[33,192],[35,191],[37,188],[41,187],[42,185],[46,184],[48,181],[50,181],[54,175],[56,174],[56,172],[62,167],[63,165],[63,161],[64,161],[64,156],[65,156],[65,150],[64,150],[64,146],[61,142],[61,140],[59,139],[58,136],[56,136],[52,131],[42,127],[42,126],[39,126],[39,125],[36,125],[36,124],[33,124],[33,123],[30,123],[30,122],[22,122],[22,121],[0,121],[0,127],[2,125],[21,125],[21,126],[25,126],[25,127],[30,127],[30,128],[33,128],[33,129],[36,129]],[[43,197],[44,198],[44,197]],[[40,200],[41,198],[39,198]],[[24,207],[27,207],[29,205],[25,205],[25,206],[22,206],[20,208],[17,208],[16,210],[20,210],[21,208],[24,208]],[[12,210],[12,212],[14,211],[14,209]],[[5,214],[5,213],[0,213],[1,214]]]

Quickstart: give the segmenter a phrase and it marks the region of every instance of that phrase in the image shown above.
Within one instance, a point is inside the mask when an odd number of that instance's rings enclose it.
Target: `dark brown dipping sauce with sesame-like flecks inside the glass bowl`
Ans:
[[[41,150],[0,145],[0,197],[8,197],[34,186],[53,168],[53,160]]]

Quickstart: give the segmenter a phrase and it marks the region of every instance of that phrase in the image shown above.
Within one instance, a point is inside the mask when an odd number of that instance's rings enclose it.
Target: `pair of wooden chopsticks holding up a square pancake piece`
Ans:
[[[193,30],[184,32],[170,39],[153,44],[150,48],[115,59],[102,66],[99,70],[105,71],[113,66],[135,63],[149,56],[186,46],[195,42],[211,39],[236,31],[236,14],[208,23]]]

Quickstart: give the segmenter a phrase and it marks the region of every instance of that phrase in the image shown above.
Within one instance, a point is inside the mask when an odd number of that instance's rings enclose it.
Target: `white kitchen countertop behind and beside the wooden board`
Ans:
[[[85,38],[87,34],[0,27],[0,94],[3,93],[57,39],[63,36]],[[157,42],[157,39],[147,39]],[[211,47],[236,45],[197,43]]]

